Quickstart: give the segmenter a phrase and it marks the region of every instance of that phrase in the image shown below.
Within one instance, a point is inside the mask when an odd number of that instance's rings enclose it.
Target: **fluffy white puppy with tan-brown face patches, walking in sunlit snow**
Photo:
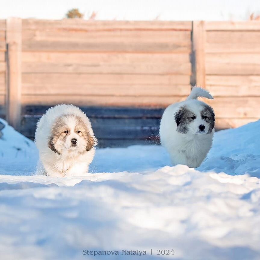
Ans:
[[[49,176],[81,176],[95,155],[94,136],[88,117],[73,105],[57,105],[37,123],[39,149],[37,172]]]

